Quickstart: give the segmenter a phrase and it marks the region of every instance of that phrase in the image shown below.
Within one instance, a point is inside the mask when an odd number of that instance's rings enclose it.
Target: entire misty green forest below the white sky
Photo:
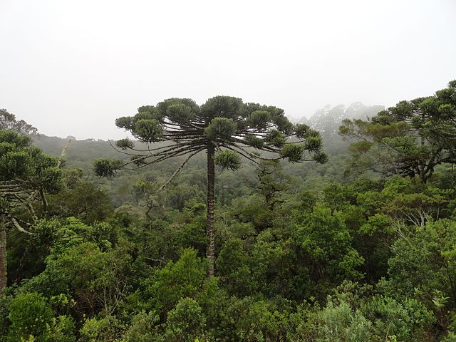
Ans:
[[[455,81],[300,124],[173,98],[115,143],[1,113],[1,341],[456,339]]]

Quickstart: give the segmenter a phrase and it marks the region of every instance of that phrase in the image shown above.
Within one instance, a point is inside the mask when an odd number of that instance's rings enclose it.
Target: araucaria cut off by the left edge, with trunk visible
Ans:
[[[6,229],[28,233],[46,213],[46,194],[61,186],[58,158],[33,147],[27,135],[0,130],[0,292],[6,287]]]

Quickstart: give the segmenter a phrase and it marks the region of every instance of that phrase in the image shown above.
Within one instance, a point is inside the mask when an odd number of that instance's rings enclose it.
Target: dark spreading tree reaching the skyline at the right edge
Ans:
[[[401,101],[369,120],[343,120],[352,164],[425,183],[437,165],[456,164],[456,81],[435,95]]]

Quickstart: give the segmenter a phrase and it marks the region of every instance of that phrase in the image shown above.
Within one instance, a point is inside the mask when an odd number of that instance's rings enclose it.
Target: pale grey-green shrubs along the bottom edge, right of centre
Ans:
[[[346,284],[348,285],[348,284]],[[351,290],[329,296],[326,306],[304,307],[291,341],[428,341],[435,319],[418,301],[363,298]]]

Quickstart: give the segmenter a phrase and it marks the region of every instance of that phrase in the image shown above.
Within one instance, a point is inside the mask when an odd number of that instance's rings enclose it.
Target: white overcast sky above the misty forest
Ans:
[[[456,0],[0,0],[0,108],[46,135],[124,138],[170,97],[393,105],[456,78]]]

